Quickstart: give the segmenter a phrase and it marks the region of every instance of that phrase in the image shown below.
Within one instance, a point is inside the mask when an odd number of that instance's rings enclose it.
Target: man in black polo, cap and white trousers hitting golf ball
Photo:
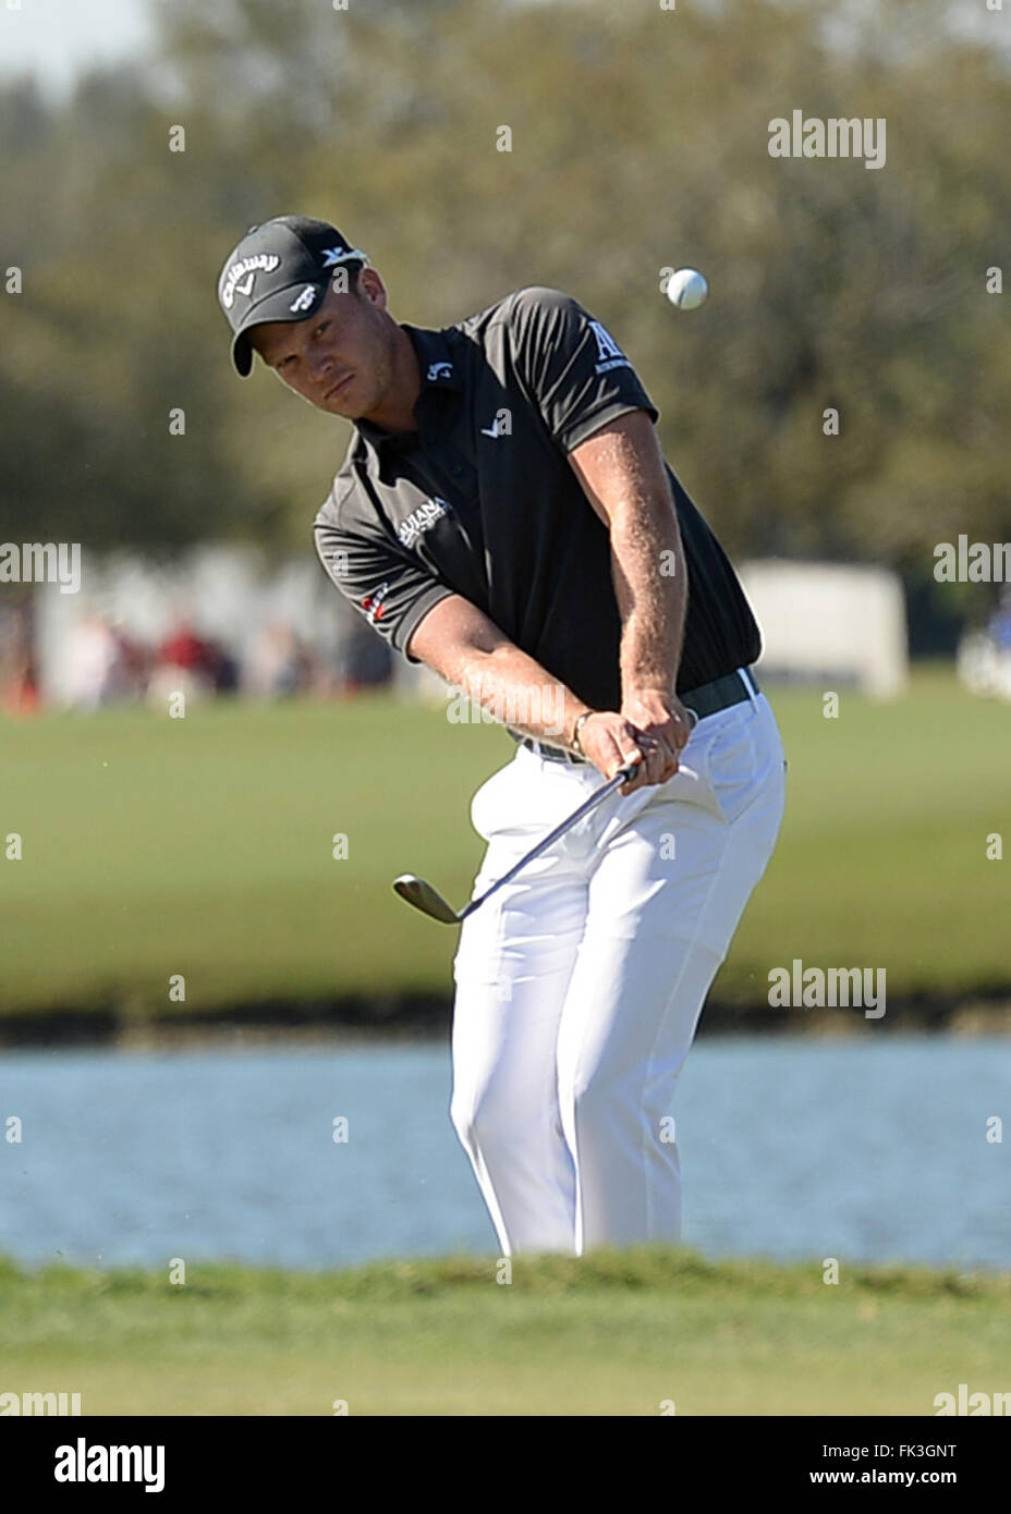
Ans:
[[[472,799],[475,893],[636,763],[463,924],[451,1117],[502,1254],[677,1241],[675,1087],[785,765],[758,628],[657,407],[571,295],[398,322],[366,254],[306,217],[253,227],[218,297],[241,374],[259,353],[354,422],[315,521],[336,587],[516,742]],[[409,745],[400,771],[390,810],[442,781]]]

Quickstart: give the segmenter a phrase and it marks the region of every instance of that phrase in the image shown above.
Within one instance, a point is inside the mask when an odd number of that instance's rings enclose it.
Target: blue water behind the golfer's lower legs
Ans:
[[[1011,1114],[1009,1064],[1002,1040],[702,1040],[670,1110],[686,1245],[1011,1267],[1011,1128],[985,1139]],[[496,1255],[448,1105],[434,1043],[8,1054],[0,1252],[303,1269]]]

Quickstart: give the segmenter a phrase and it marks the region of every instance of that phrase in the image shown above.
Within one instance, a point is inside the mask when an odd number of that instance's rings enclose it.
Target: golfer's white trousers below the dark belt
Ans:
[[[672,1099],[784,807],[764,695],[695,727],[462,927],[451,1119],[502,1255],[677,1241]],[[481,893],[605,780],[518,746],[481,784]]]

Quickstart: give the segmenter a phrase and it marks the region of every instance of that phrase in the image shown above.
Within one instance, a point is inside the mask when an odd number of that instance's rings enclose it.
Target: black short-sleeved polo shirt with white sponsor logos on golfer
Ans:
[[[443,330],[403,324],[418,430],[359,421],[316,515],[319,559],[397,651],[448,593],[596,710],[621,709],[608,530],[566,454],[652,404],[613,338],[558,289],[518,289]],[[667,468],[689,572],[678,690],[761,650],[729,562]],[[409,657],[409,662],[418,662]]]

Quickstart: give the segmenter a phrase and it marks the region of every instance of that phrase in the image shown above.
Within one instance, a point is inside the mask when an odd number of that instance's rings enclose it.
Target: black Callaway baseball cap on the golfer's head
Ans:
[[[245,335],[265,321],[307,321],[322,304],[334,268],[365,268],[366,254],[336,227],[307,215],[275,215],[251,226],[229,253],[218,303],[235,332],[232,360],[245,378],[253,348]]]

